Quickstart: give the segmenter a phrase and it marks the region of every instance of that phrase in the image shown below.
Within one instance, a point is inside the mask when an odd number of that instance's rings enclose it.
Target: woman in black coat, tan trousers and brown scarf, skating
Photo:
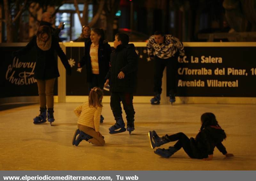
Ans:
[[[60,48],[59,42],[51,35],[51,30],[48,26],[39,26],[36,36],[33,36],[26,47],[13,52],[13,56],[20,57],[28,53],[33,47],[36,47],[36,67],[34,76],[37,80],[40,102],[40,114],[34,118],[34,124],[44,123],[46,122],[46,118],[48,122],[52,124],[54,121],[53,87],[55,79],[60,77],[54,52],[57,52],[68,75],[71,75],[71,67],[68,64],[66,55]]]

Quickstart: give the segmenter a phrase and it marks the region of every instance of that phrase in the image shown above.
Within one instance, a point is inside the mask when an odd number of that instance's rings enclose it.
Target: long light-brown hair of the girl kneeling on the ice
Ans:
[[[99,87],[93,87],[89,94],[89,106],[94,108],[103,107],[101,103],[101,98],[103,97],[103,92]]]

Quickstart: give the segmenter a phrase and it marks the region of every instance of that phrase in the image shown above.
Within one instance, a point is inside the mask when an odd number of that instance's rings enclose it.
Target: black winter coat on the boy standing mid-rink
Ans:
[[[119,72],[124,72],[124,79],[118,79]],[[134,93],[137,87],[138,55],[134,44],[118,45],[111,53],[109,79],[111,92]]]

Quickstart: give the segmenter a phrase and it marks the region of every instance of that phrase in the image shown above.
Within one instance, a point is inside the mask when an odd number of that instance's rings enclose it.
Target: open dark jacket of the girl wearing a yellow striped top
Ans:
[[[92,82],[92,63],[90,57],[90,48],[92,45],[92,41],[84,42],[84,56],[80,61],[80,67],[86,66],[86,81]],[[98,49],[98,63],[99,63],[99,77],[102,81],[104,81],[105,76],[109,70],[109,61],[110,61],[110,54],[111,54],[111,47],[108,42],[101,42],[99,43]]]

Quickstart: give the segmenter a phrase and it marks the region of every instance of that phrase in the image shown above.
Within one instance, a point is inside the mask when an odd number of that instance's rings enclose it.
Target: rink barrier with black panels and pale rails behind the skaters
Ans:
[[[154,74],[154,64],[152,61],[148,61],[147,52],[146,52],[146,43],[145,42],[131,42],[135,44],[138,56],[139,56],[139,71],[138,72],[138,89],[134,94],[134,103],[149,103],[149,100],[153,96],[153,74]],[[8,64],[12,64],[12,60],[8,59],[8,55],[21,47],[24,47],[27,43],[2,43],[0,44],[1,53],[5,54],[5,62],[6,59],[9,62]],[[110,46],[113,47],[113,42],[109,42]],[[179,64],[180,68],[184,68],[187,66],[187,71],[196,70],[197,72],[201,70],[201,73],[204,72],[204,69],[212,69],[212,72],[216,68],[225,69],[227,72],[227,67],[235,69],[246,69],[246,73],[254,73],[256,74],[256,61],[253,56],[256,51],[256,42],[184,42],[185,52],[187,58],[184,60],[182,64]],[[67,55],[68,60],[73,62],[75,66],[72,67],[72,76],[63,76],[66,74],[64,66],[61,64],[60,58],[58,57],[58,67],[60,72],[60,77],[55,82],[54,88],[54,102],[83,102],[87,99],[88,95],[88,87],[85,83],[85,72],[82,69],[82,72],[77,71],[77,61],[84,54],[84,43],[83,42],[64,42],[60,43],[61,48],[64,53]],[[6,49],[8,47],[8,49]],[[226,49],[228,52],[226,52]],[[214,50],[212,53],[211,51]],[[239,50],[243,50],[239,52]],[[210,52],[210,53],[209,53]],[[222,57],[222,63],[208,63],[208,64],[200,64],[200,63],[191,63],[192,56],[193,59],[204,54],[205,57]],[[221,54],[221,55],[220,55]],[[23,57],[25,60],[31,60],[31,57],[35,56],[35,51],[32,51],[29,56]],[[232,58],[228,58],[228,57]],[[236,60],[236,58],[240,58]],[[243,57],[243,60],[241,59]],[[22,58],[21,58],[22,59]],[[216,58],[215,58],[216,59]],[[230,59],[230,60],[228,60]],[[236,60],[236,61],[234,61]],[[194,60],[195,61],[195,60]],[[200,61],[200,60],[199,60]],[[215,61],[215,60],[214,60]],[[231,63],[230,63],[231,61]],[[188,63],[185,63],[188,62]],[[236,62],[236,63],[234,63]],[[225,66],[224,66],[225,64]],[[207,65],[207,66],[206,66]],[[223,65],[223,66],[222,66]],[[5,67],[4,67],[5,66]],[[29,88],[25,88],[24,86],[13,86],[9,85],[6,82],[6,79],[3,80],[6,76],[6,65],[2,62],[1,68],[4,68],[1,72],[1,87],[5,87],[4,94],[1,94],[0,103],[11,103],[11,102],[38,102],[38,93],[36,83],[33,85],[29,85]],[[251,70],[251,68],[253,70]],[[188,70],[190,69],[190,70]],[[220,71],[218,70],[218,71]],[[186,71],[186,70],[185,70]],[[185,72],[183,70],[183,73]],[[180,71],[182,72],[182,71]],[[194,71],[195,72],[195,71]],[[189,73],[189,72],[188,72]],[[221,72],[220,72],[221,73]],[[178,75],[178,79],[182,79],[180,81],[180,85],[184,84],[184,82],[188,81],[189,84],[199,84],[198,81],[194,81],[197,79],[207,79],[209,80],[217,80],[220,78],[220,81],[228,81],[228,84],[233,84],[237,87],[178,87],[178,95],[176,96],[176,103],[223,103],[223,104],[255,104],[256,96],[255,96],[255,79],[256,76],[249,75],[245,77],[245,75],[225,75],[225,76],[216,76],[216,75]],[[201,76],[201,77],[200,77]],[[215,76],[215,77],[214,77]],[[199,77],[199,78],[198,78]],[[216,78],[217,77],[217,78]],[[235,77],[235,79],[233,78]],[[245,79],[246,78],[246,79]],[[184,80],[183,80],[184,79]],[[187,80],[188,79],[188,80]],[[237,82],[236,82],[237,79]],[[248,83],[246,83],[248,81]],[[166,69],[164,70],[164,76],[162,79],[162,94],[161,94],[161,103],[169,103],[169,96],[167,90],[167,78],[166,78]],[[185,82],[185,85],[186,85]],[[191,83],[192,82],[192,83]],[[218,83],[218,82],[217,82]],[[239,87],[240,84],[243,83],[245,86]],[[205,81],[206,84],[206,81]],[[214,82],[212,83],[212,85]],[[226,86],[227,86],[226,85]],[[66,87],[66,88],[63,88]],[[244,90],[243,90],[244,89]],[[192,90],[192,91],[191,91]],[[209,92],[208,90],[212,91]],[[215,91],[218,90],[218,91]],[[208,92],[207,92],[208,91]],[[1,91],[2,92],[2,91]],[[180,92],[180,94],[179,94]],[[103,102],[109,102],[109,92],[104,91],[104,99]],[[195,94],[195,95],[193,95]],[[201,94],[204,94],[200,96]],[[166,95],[166,96],[164,96]]]

